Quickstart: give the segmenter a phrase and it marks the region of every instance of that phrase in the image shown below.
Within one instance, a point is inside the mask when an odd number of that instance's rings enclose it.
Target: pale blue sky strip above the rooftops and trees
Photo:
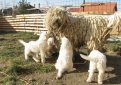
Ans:
[[[8,8],[18,4],[21,0],[0,0],[0,9]],[[38,7],[38,3],[40,6],[57,6],[57,5],[73,5],[79,6],[83,0],[26,0],[30,2],[31,5],[36,4]],[[86,2],[117,2],[118,9],[121,10],[121,0],[85,0]]]

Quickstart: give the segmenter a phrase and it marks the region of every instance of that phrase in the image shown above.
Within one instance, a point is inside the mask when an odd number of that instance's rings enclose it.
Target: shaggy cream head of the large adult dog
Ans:
[[[59,29],[67,20],[67,11],[62,7],[50,8],[46,16],[49,29]]]

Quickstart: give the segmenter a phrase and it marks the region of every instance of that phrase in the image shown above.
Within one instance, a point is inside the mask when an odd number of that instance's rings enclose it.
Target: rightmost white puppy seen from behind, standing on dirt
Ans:
[[[93,74],[97,69],[99,71],[98,84],[103,84],[102,79],[106,69],[106,61],[107,61],[106,56],[98,50],[92,50],[88,57],[82,54],[80,54],[80,56],[83,59],[90,61],[89,70],[88,70],[89,76],[87,82],[91,82],[93,80],[92,79]]]

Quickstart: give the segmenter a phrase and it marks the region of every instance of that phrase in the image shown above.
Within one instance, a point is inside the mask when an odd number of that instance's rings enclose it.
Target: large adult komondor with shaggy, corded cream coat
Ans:
[[[73,16],[62,7],[53,7],[47,12],[45,24],[49,32],[53,33],[57,38],[60,38],[60,34],[66,35],[72,46],[76,48],[86,44],[90,50],[100,50],[116,25],[116,16],[120,15],[114,14],[112,22],[109,19],[110,15]],[[121,21],[121,18],[119,20]],[[112,25],[114,26],[111,27]]]

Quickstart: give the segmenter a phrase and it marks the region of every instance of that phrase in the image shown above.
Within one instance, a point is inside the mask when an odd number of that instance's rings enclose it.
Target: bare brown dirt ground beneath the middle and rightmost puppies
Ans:
[[[107,53],[107,69],[104,75],[104,85],[121,85],[121,56],[117,53]],[[54,64],[54,63],[53,63]],[[57,71],[54,69],[50,73],[33,73],[28,75],[22,75],[29,85],[98,85],[97,75],[94,74],[94,81],[87,83],[88,76],[88,64],[80,62],[79,58],[74,64],[75,71],[65,73],[60,80],[56,80]]]

